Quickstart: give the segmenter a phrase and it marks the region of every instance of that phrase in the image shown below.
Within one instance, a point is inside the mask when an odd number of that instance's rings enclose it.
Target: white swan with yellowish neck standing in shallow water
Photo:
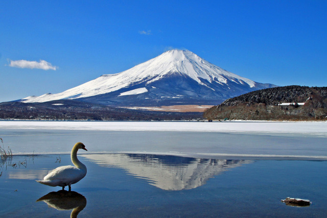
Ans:
[[[83,179],[86,175],[86,166],[77,159],[77,151],[85,149],[81,142],[77,142],[72,149],[71,159],[75,166],[59,166],[46,175],[43,180],[36,180],[37,182],[49,186],[61,186],[62,189],[68,185],[69,191],[71,185]]]

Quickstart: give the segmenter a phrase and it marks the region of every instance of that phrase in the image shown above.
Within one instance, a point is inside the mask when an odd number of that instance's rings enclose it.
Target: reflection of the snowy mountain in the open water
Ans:
[[[148,154],[92,154],[84,158],[104,167],[119,167],[164,190],[192,189],[250,160],[217,160]]]

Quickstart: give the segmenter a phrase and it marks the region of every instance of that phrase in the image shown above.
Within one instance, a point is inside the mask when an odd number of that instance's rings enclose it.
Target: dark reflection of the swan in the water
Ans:
[[[49,207],[57,210],[73,210],[71,217],[77,217],[78,213],[86,206],[86,198],[76,191],[52,191],[39,198],[38,201],[43,201]]]

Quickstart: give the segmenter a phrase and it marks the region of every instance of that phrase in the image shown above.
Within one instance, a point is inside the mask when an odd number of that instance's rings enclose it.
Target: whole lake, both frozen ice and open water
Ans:
[[[5,148],[19,154],[0,164],[0,214],[325,217],[326,123],[295,124],[0,122]],[[88,172],[72,192],[35,182],[72,165],[77,141]]]

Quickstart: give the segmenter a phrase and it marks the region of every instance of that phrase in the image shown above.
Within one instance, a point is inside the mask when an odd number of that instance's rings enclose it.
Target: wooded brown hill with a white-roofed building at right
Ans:
[[[207,119],[327,120],[327,87],[283,86],[228,99],[204,112]]]

